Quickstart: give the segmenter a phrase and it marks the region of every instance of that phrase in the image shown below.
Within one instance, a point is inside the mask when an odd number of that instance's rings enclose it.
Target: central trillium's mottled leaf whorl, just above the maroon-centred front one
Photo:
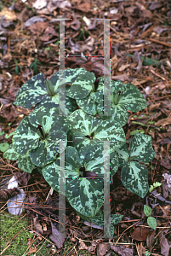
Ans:
[[[73,140],[72,146],[77,146],[78,150],[85,145],[93,145],[104,140],[112,141],[112,145],[116,148],[120,148],[126,142],[123,128],[110,119],[94,118],[81,109],[71,113],[68,119],[71,126],[69,137]],[[92,139],[88,138],[92,133],[94,133]]]

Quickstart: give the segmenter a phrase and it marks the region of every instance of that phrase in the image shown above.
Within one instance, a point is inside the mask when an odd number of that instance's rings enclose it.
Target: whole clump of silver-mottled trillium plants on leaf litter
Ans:
[[[59,93],[63,75],[65,106]],[[37,167],[59,192],[60,141],[65,142],[66,199],[78,215],[95,224],[103,224],[104,141],[110,141],[110,176],[122,167],[123,186],[141,198],[149,189],[143,163],[155,156],[150,136],[136,133],[128,149],[123,131],[127,110],[146,108],[144,96],[134,84],[108,81],[110,116],[104,115],[104,78],[96,78],[84,68],[59,71],[49,80],[43,73],[29,79],[18,91],[14,105],[34,110],[22,119],[13,143],[3,153],[4,158],[17,160],[24,172],[31,173]],[[60,115],[59,109],[64,114]],[[111,215],[111,224],[121,218],[123,215]]]

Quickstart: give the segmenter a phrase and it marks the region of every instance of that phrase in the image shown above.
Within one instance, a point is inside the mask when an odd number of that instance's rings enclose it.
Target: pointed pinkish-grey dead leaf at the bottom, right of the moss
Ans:
[[[51,220],[50,222],[52,226],[52,235],[50,235],[49,238],[54,241],[54,245],[60,249],[63,247],[63,243],[66,239],[66,232],[61,233],[59,230],[57,230]]]

